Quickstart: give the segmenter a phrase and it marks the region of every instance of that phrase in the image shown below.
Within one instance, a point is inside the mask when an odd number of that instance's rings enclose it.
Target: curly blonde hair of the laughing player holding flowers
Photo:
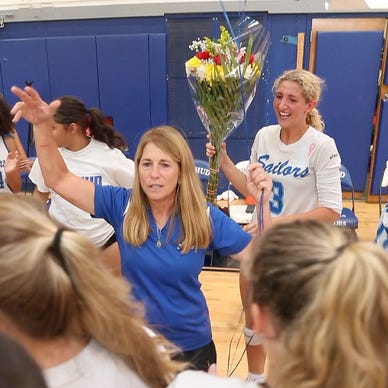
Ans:
[[[319,103],[324,81],[317,75],[307,70],[287,70],[275,80],[272,88],[273,93],[276,93],[276,90],[283,81],[296,82],[300,86],[302,95],[307,103],[312,101],[315,101],[317,104]],[[317,108],[313,108],[307,113],[306,124],[311,125],[321,132],[325,128],[325,123]]]

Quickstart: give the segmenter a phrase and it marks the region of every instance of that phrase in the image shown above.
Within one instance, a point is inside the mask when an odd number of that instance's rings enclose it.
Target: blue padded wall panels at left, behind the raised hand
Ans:
[[[0,40],[2,89],[33,85],[46,100],[65,94],[112,116],[133,157],[142,133],[167,122],[166,35],[111,34]],[[157,63],[158,66],[151,66]],[[28,124],[17,124],[29,155]]]

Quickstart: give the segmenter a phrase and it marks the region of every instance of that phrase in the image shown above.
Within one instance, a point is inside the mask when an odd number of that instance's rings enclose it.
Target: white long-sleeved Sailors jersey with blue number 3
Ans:
[[[341,213],[341,158],[334,139],[309,127],[297,142],[284,144],[280,131],[280,125],[261,128],[250,156],[250,163],[259,162],[273,180],[272,216],[321,206]]]

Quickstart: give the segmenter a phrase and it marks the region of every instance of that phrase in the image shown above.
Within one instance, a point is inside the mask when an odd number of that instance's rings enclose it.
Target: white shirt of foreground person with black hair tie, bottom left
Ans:
[[[94,340],[43,375],[49,388],[147,388],[123,360]]]

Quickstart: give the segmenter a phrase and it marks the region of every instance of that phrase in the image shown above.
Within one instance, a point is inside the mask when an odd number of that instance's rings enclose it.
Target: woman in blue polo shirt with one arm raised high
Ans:
[[[71,174],[57,151],[48,123],[59,102],[47,105],[31,87],[12,91],[21,99],[13,108],[16,118],[34,124],[46,184],[114,227],[122,273],[144,303],[149,323],[182,350],[178,359],[207,370],[216,362],[216,351],[198,279],[205,253],[217,249],[241,260],[250,257],[253,241],[206,204],[185,138],[170,126],[147,131],[135,155],[133,189],[94,185]],[[265,189],[268,203],[272,183],[258,164],[251,167],[248,186],[258,202]],[[263,212],[269,219],[268,206]]]

